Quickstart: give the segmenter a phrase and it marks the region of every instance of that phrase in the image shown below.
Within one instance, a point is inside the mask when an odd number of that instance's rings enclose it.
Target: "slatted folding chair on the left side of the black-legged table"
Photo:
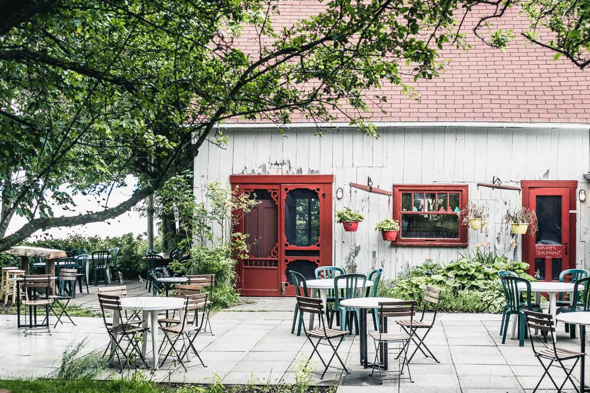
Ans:
[[[309,359],[307,359],[307,363],[309,363],[312,360],[314,354],[317,354],[317,356],[319,356],[319,358],[320,358],[320,361],[322,361],[322,364],[324,365],[324,372],[322,372],[322,376],[320,377],[320,379],[323,379],[324,375],[326,375],[326,371],[328,371],[328,368],[330,367],[330,364],[332,363],[332,360],[334,359],[334,356],[336,356],[336,358],[338,358],[338,360],[340,361],[340,364],[342,365],[342,369],[344,369],[344,371],[346,371],[346,374],[350,374],[350,372],[346,368],[344,362],[342,361],[342,359],[340,359],[340,355],[338,355],[338,348],[340,348],[340,345],[344,341],[344,337],[346,336],[346,331],[326,328],[326,321],[324,319],[324,308],[323,308],[323,304],[322,304],[322,299],[306,298],[304,296],[297,296],[297,308],[299,308],[301,318],[303,318],[304,313],[309,312],[309,313],[317,315],[317,319],[318,319],[318,323],[319,323],[317,328],[313,328],[310,331],[307,330],[306,324],[303,323],[303,330],[305,332],[305,335],[307,336],[307,340],[313,346],[312,354],[309,356]],[[317,338],[317,342],[314,343],[313,338]],[[336,346],[332,343],[333,339],[339,339]],[[322,341],[327,341],[327,344],[322,344]],[[332,350],[334,351],[334,353],[330,357],[330,360],[327,363],[324,361],[324,359],[322,358],[322,355],[317,350],[317,348],[320,345],[329,345],[330,348],[332,348]],[[340,369],[338,367],[334,367],[334,368]]]

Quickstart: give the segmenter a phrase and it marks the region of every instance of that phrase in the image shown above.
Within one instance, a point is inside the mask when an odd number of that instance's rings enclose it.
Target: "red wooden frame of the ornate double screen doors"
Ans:
[[[289,188],[293,185],[307,187],[313,186],[313,184],[317,184],[318,186],[322,186],[322,194],[320,194],[320,198],[322,198],[323,202],[320,204],[320,235],[319,235],[319,244],[320,246],[320,266],[325,265],[332,265],[332,229],[333,229],[333,214],[332,214],[332,187],[334,182],[333,175],[323,175],[323,174],[310,174],[310,175],[255,175],[255,174],[237,174],[230,176],[230,183],[232,189],[238,187],[238,190],[242,189],[251,189],[251,188],[273,188],[276,189],[280,187],[278,190],[278,269],[279,269],[279,277],[280,282],[277,282],[277,285],[285,285],[285,293],[286,296],[294,296],[294,288],[292,286],[288,286],[287,278],[284,275],[284,268],[286,266],[287,260],[291,259],[316,259],[318,260],[319,257],[286,257],[284,255],[284,250],[286,247],[286,238],[284,235],[284,199],[285,199],[285,187]],[[253,187],[255,186],[255,187]],[[310,187],[314,188],[314,187]],[[274,199],[274,198],[273,198]],[[235,227],[237,232],[241,232],[244,230],[244,222],[240,220],[238,225]],[[281,242],[281,240],[283,240]],[[293,246],[287,246],[288,248],[292,248]],[[317,249],[316,246],[311,247],[296,247],[298,249]],[[242,282],[242,262],[238,263],[236,266],[236,272],[238,276],[240,276],[240,281],[238,282],[238,288],[243,291],[243,282]],[[280,291],[280,288],[279,288]],[[250,296],[272,296],[268,292],[256,292],[255,290],[248,291]]]

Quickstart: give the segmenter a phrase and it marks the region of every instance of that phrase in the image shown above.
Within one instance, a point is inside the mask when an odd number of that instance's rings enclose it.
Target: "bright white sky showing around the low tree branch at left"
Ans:
[[[131,194],[136,186],[136,180],[129,176],[127,177],[127,186],[122,187],[119,189],[114,189],[109,198],[109,207],[116,206],[120,202],[123,202]],[[54,206],[54,216],[76,216],[78,213],[86,213],[88,210],[91,212],[97,212],[98,210],[102,210],[103,208],[100,206],[99,201],[97,201],[94,197],[83,196],[78,194],[73,197],[74,202],[76,203],[76,209],[74,211],[71,210],[63,210],[60,209],[59,206]],[[8,226],[7,234],[15,232],[18,230],[22,225],[27,223],[27,220],[24,217],[17,216],[15,214],[12,217],[12,220]],[[110,223],[110,224],[109,224]],[[158,223],[154,224],[154,230],[158,230]],[[90,223],[86,225],[78,225],[74,227],[57,227],[51,228],[47,231],[37,231],[34,233],[33,236],[30,237],[30,240],[38,240],[41,237],[44,237],[45,234],[48,236],[53,237],[67,237],[69,235],[74,235],[79,233],[84,236],[91,236],[91,235],[99,235],[102,237],[105,236],[120,236],[124,235],[125,233],[133,233],[133,235],[139,235],[140,233],[147,232],[148,230],[148,219],[146,217],[141,217],[138,212],[130,211],[121,214],[119,217],[116,217],[111,220],[107,220],[107,222],[97,222],[97,223]]]

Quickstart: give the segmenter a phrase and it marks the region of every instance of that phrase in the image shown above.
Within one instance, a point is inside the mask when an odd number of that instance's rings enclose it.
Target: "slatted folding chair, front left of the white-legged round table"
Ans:
[[[142,333],[148,331],[148,328],[137,326],[135,323],[125,323],[123,320],[123,313],[121,309],[121,302],[119,296],[116,295],[104,295],[99,293],[100,309],[103,312],[104,327],[109,333],[110,342],[114,344],[114,348],[110,345],[110,355],[107,362],[111,362],[114,356],[117,356],[120,365],[120,371],[123,372],[124,366],[129,366],[130,362],[135,359],[135,355],[139,355],[142,363],[146,368],[149,368],[148,362],[139,348],[139,343],[142,341]],[[113,323],[107,321],[105,311],[113,311]],[[122,344],[127,344],[123,349]],[[107,346],[107,350],[109,346]],[[104,351],[103,358],[107,351]],[[122,358],[125,358],[123,364]]]

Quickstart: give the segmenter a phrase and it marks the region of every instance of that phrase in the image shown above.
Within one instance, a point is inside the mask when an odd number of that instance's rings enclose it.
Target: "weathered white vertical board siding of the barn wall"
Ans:
[[[504,252],[510,237],[501,231],[501,216],[520,206],[517,191],[477,188],[494,176],[503,184],[521,180],[578,180],[588,200],[578,202],[576,252],[579,266],[590,267],[590,187],[582,176],[590,170],[589,130],[504,127],[383,127],[381,137],[365,136],[355,128],[329,128],[324,136],[313,128],[231,128],[225,148],[201,147],[195,158],[195,197],[202,200],[205,184],[229,183],[230,174],[333,174],[333,211],[350,206],[365,214],[356,233],[345,233],[333,221],[333,263],[343,266],[351,247],[360,246],[358,271],[385,269],[393,278],[427,258],[448,262],[459,253],[489,242]],[[467,183],[469,198],[487,204],[487,233],[469,230],[470,247],[394,247],[383,242],[375,223],[388,216],[388,197],[352,189],[350,181],[391,189],[394,183]],[[343,198],[336,199],[342,187]],[[205,201],[206,202],[206,201]],[[389,206],[389,216],[392,206]],[[520,247],[517,249],[520,257]]]

